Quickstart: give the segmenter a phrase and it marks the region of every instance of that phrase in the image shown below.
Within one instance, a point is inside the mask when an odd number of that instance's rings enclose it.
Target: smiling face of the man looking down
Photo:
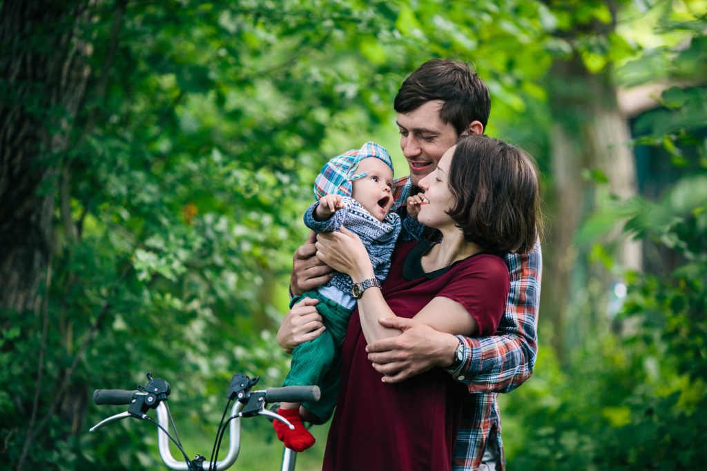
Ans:
[[[397,114],[400,129],[400,148],[410,166],[410,180],[418,186],[452,145],[457,142],[457,131],[451,124],[444,124],[439,110],[444,102],[433,100],[409,113]]]

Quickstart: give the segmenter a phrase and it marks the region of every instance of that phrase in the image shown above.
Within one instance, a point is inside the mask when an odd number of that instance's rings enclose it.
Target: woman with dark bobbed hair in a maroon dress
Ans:
[[[486,136],[463,136],[422,179],[408,211],[438,229],[440,243],[399,243],[382,288],[366,249],[346,229],[317,242],[317,256],[360,284],[342,351],[341,392],[325,470],[445,470],[466,388],[441,369],[382,383],[366,345],[399,335],[378,319],[413,317],[454,335],[491,335],[508,296],[508,251],[530,250],[539,206],[530,157]],[[419,212],[418,212],[419,208]]]

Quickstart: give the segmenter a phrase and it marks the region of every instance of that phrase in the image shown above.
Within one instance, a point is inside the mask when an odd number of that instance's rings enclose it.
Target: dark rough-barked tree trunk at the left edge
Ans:
[[[88,1],[9,0],[0,13],[0,307],[37,311],[62,153],[83,101]]]

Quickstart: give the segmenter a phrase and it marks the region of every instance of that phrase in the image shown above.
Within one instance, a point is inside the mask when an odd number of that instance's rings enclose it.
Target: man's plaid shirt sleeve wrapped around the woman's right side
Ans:
[[[529,254],[508,254],[510,292],[506,312],[495,335],[457,336],[464,362],[453,373],[469,391],[507,393],[532,374],[537,356],[537,312],[540,302],[542,250],[536,242]]]

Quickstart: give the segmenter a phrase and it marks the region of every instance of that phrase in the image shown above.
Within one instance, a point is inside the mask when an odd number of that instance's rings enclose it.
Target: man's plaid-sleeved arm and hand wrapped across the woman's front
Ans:
[[[537,309],[540,299],[542,252],[536,243],[530,254],[506,257],[511,285],[506,313],[496,335],[457,337],[464,342],[464,361],[453,373],[473,392],[505,393],[532,374],[537,355]],[[402,322],[401,322],[402,321]],[[399,328],[396,338],[368,345],[373,367],[384,381],[397,383],[433,366],[449,366],[459,340],[412,320],[382,319],[386,327]]]

